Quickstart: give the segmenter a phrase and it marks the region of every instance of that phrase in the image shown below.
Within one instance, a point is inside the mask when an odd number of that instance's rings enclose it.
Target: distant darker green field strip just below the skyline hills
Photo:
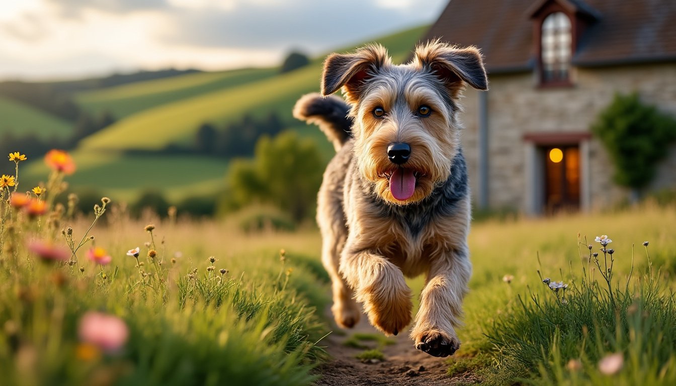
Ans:
[[[199,72],[86,91],[78,93],[75,99],[88,112],[98,114],[106,110],[119,120],[151,107],[228,87],[236,87],[247,82],[268,78],[277,72],[275,68]]]

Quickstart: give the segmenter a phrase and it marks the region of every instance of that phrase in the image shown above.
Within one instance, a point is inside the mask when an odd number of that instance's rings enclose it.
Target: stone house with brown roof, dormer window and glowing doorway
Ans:
[[[424,40],[481,49],[490,90],[465,94],[477,208],[546,214],[629,198],[589,126],[615,93],[676,116],[676,1],[451,0]],[[676,186],[676,146],[650,189]]]

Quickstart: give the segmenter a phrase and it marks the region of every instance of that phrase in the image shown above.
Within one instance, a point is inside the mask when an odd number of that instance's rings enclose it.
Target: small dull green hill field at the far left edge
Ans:
[[[0,132],[39,139],[67,139],[73,124],[33,107],[0,97]]]

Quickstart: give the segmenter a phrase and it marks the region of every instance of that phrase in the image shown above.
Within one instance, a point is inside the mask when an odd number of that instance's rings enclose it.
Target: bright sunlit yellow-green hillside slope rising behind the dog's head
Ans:
[[[401,61],[408,57],[425,28],[413,28],[374,41],[388,47],[395,61]],[[166,103],[97,132],[82,141],[80,149],[162,149],[170,143],[191,139],[203,122],[236,120],[245,113],[258,116],[275,111],[285,122],[293,122],[293,103],[304,93],[318,91],[320,73],[321,60],[316,60],[287,74]]]

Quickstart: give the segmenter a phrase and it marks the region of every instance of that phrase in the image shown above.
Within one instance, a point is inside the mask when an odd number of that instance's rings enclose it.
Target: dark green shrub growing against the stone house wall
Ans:
[[[615,165],[615,182],[633,189],[650,183],[676,140],[676,120],[642,103],[637,93],[615,95],[591,129]]]

